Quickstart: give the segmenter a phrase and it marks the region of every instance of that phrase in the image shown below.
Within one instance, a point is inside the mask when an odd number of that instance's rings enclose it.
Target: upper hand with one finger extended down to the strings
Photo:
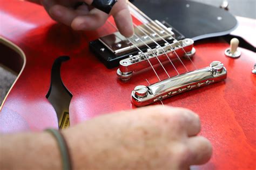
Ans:
[[[92,8],[93,0],[84,0],[86,4],[77,6],[78,0],[29,0],[42,4],[50,17],[57,22],[71,26],[73,30],[95,30],[102,26],[109,15]],[[133,35],[132,17],[126,0],[114,4],[110,15],[113,16],[117,28],[125,37]]]

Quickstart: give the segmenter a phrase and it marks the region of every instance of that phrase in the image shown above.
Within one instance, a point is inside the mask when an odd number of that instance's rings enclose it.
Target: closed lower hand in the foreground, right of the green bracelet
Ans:
[[[189,169],[206,163],[210,142],[198,115],[145,107],[100,116],[64,130],[74,169]]]

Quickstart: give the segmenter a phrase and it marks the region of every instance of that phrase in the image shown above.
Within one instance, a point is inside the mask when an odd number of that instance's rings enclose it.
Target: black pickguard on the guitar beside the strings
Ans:
[[[133,4],[151,19],[165,20],[193,40],[224,36],[237,26],[237,19],[230,12],[198,2],[139,0]]]

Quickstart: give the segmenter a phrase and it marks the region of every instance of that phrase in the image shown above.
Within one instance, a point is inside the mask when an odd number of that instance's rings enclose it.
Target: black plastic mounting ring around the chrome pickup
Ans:
[[[164,23],[164,22],[163,22]],[[165,24],[164,24],[165,25]],[[167,27],[171,27],[170,25],[166,25]],[[178,32],[176,29],[174,29],[172,27],[172,31],[174,32],[176,39],[177,40],[181,40],[184,39],[185,37],[183,36],[183,34],[181,34],[180,32]],[[168,40],[166,40],[168,41]],[[173,40],[169,40],[169,43],[172,43]],[[158,43],[159,45],[164,45],[165,41],[160,41]],[[116,54],[114,54],[113,52],[111,52],[104,44],[102,44],[102,42],[100,42],[99,40],[95,40],[95,41],[91,41],[90,44],[90,50],[96,54],[96,56],[99,58],[100,61],[102,61],[104,63],[104,65],[111,69],[114,67],[118,67],[119,66],[119,61],[126,59],[129,57],[129,55],[136,55],[139,51],[133,51],[131,53],[127,53],[127,54],[123,54],[120,56],[117,56]],[[149,45],[151,48],[155,48],[157,45],[152,43]],[[104,51],[101,51],[100,49],[105,48]],[[146,52],[147,47],[145,48],[141,48],[141,50],[143,52]]]

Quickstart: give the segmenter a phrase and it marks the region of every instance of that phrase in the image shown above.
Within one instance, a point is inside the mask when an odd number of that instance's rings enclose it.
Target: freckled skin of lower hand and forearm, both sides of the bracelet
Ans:
[[[62,133],[73,169],[169,170],[210,159],[212,146],[199,131],[192,111],[158,106],[99,116]],[[46,132],[0,135],[0,169],[62,169],[57,142]]]

